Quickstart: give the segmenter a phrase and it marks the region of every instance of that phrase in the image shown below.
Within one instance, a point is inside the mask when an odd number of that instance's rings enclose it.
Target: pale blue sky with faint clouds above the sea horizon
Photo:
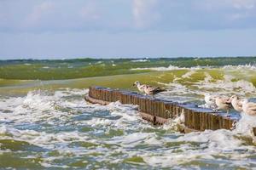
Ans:
[[[0,59],[256,56],[256,0],[0,0]]]

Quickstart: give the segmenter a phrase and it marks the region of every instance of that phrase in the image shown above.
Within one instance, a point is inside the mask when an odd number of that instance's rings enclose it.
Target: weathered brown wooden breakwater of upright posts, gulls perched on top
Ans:
[[[172,101],[153,99],[135,92],[102,87],[90,87],[85,100],[91,103],[108,105],[119,101],[121,104],[138,105],[138,110],[144,119],[160,125],[168,120],[183,114],[184,122],[180,130],[187,133],[191,131],[204,131],[206,129],[231,129],[238,120],[237,117],[227,117],[216,114],[212,110],[199,108],[197,105],[178,104]],[[256,133],[256,129],[253,129]]]

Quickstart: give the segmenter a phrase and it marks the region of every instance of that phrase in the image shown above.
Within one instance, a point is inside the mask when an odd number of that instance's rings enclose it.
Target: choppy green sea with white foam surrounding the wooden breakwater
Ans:
[[[0,61],[0,167],[30,169],[253,169],[254,117],[233,131],[155,127],[134,105],[90,105],[90,85],[167,88],[156,97],[204,106],[206,92],[254,100],[255,58]],[[236,111],[232,114],[240,115]]]

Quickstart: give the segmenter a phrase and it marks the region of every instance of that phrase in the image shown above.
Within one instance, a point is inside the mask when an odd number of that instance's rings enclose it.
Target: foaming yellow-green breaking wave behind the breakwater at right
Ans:
[[[218,68],[218,70],[202,67],[187,68],[188,71],[183,75],[176,75],[177,71],[174,70],[183,70],[184,68],[174,68],[172,71],[174,76],[170,82],[158,82],[168,89],[159,96],[160,98],[182,102],[200,101],[206,93],[227,96],[236,94],[241,97],[253,98],[256,94],[256,88],[253,84],[255,82],[252,82],[252,80],[254,80],[256,72],[248,72],[248,70],[253,70],[252,67],[252,65],[245,65],[244,67],[241,65],[225,66]],[[241,70],[237,71],[236,68]]]

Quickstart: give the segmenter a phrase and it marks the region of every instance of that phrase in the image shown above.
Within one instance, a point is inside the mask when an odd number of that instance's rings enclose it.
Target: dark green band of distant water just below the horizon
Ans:
[[[102,77],[134,74],[147,70],[134,68],[224,65],[254,65],[256,57],[240,58],[177,58],[177,59],[62,59],[62,60],[0,60],[0,78],[15,80],[62,80],[82,77]]]

